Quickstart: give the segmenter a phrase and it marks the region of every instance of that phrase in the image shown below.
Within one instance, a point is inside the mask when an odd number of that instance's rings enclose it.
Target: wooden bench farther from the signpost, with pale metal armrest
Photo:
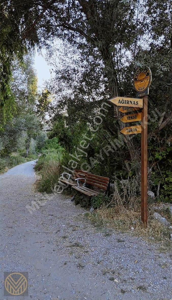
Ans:
[[[86,175],[88,172],[82,171],[82,170],[74,170],[73,174],[69,173],[62,173],[62,179],[60,179],[61,182],[66,183],[68,185],[73,186],[79,186],[79,181],[84,182],[83,186],[85,186],[86,182]],[[64,175],[68,175],[68,178],[65,178]]]

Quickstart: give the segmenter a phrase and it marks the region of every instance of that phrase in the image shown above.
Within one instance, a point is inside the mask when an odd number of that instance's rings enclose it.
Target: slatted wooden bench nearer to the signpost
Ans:
[[[86,183],[86,186],[85,185],[83,185],[83,186],[73,185],[72,188],[74,188],[75,190],[77,190],[80,193],[83,193],[89,197],[97,196],[99,194],[99,192],[88,188],[87,187],[88,185],[95,186],[95,187],[98,187],[99,189],[106,190],[105,195],[107,195],[107,193],[109,194],[110,180],[107,177],[102,177],[102,176],[94,175],[91,173],[87,173],[85,183]]]

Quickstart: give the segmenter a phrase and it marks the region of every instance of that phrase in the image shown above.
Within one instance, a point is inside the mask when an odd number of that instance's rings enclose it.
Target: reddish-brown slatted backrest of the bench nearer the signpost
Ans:
[[[87,173],[86,183],[107,190],[109,178]]]

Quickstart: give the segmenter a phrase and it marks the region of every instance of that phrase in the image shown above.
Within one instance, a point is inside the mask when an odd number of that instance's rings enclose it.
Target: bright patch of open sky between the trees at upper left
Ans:
[[[38,54],[36,51],[35,54],[35,70],[38,76],[38,90],[41,90],[45,85],[44,82],[49,80],[51,77],[50,74],[50,66],[44,59],[44,55],[46,54],[45,50],[42,50],[42,55]]]

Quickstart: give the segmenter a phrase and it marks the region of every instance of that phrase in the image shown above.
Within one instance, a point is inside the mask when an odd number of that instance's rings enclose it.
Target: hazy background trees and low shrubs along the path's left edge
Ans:
[[[0,173],[38,158],[39,149],[47,138],[37,109],[41,96],[31,56],[26,56],[22,65],[14,61],[12,74],[13,116],[5,119],[2,110],[0,112]]]

